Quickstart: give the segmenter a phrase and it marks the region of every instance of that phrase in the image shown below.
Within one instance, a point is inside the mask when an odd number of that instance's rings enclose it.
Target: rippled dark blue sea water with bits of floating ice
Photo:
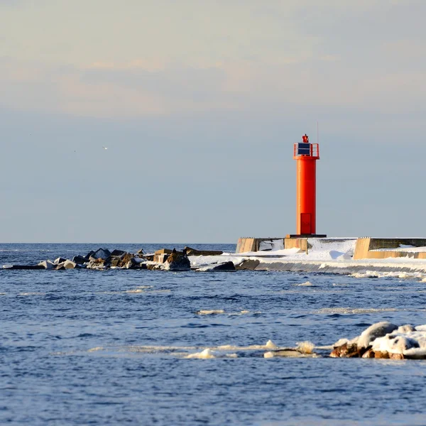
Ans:
[[[0,244],[0,266],[98,247]],[[285,272],[0,270],[0,424],[426,425],[426,361],[325,350],[266,359],[247,347],[324,346],[382,320],[425,324],[425,286]],[[207,348],[214,359],[186,358]]]

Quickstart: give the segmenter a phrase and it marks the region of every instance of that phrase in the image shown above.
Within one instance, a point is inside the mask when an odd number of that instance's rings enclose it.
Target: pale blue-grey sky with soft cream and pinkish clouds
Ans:
[[[0,241],[426,236],[426,1],[0,0]],[[107,147],[108,149],[104,149]]]

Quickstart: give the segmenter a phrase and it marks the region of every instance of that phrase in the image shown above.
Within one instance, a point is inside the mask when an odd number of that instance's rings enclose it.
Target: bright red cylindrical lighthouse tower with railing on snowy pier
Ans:
[[[320,159],[320,146],[310,143],[309,137],[302,136],[302,142],[295,143],[293,158],[296,160],[296,235],[317,236],[316,173]]]

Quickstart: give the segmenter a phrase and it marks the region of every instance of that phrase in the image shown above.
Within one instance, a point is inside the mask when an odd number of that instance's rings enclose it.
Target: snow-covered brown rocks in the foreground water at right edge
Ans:
[[[426,359],[426,325],[378,322],[333,348],[332,358]]]

